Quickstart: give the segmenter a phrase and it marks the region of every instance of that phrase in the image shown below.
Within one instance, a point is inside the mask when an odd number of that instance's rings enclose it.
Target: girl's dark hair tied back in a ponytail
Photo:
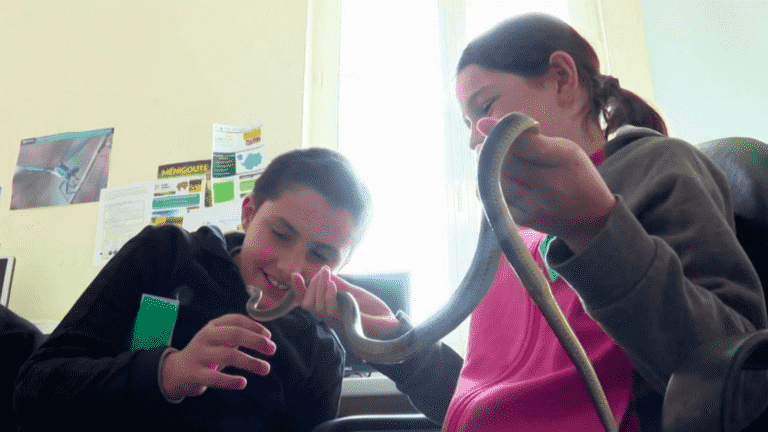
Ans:
[[[607,138],[620,126],[630,124],[667,134],[661,115],[643,99],[619,87],[619,81],[600,74],[595,50],[566,22],[543,13],[529,13],[501,22],[467,45],[456,74],[474,64],[484,69],[508,72],[524,78],[544,75],[549,57],[564,51],[573,57],[579,81],[590,98],[589,116],[605,121]]]

